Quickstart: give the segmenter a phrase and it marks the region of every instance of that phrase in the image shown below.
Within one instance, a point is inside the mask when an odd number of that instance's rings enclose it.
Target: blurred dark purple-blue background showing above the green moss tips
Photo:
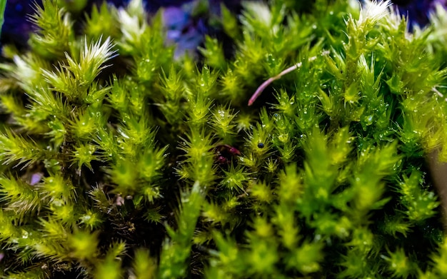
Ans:
[[[88,1],[86,11],[94,4],[101,4],[104,0]],[[167,41],[174,42],[179,46],[178,54],[184,49],[196,49],[203,41],[204,34],[213,34],[207,20],[210,14],[220,13],[221,0],[208,0],[209,11],[207,14],[193,15],[194,5],[200,0],[152,0],[144,1],[145,9],[155,12],[164,7],[164,20],[167,29]],[[202,0],[205,1],[205,0]],[[124,6],[129,0],[109,0],[109,4]],[[226,6],[237,11],[240,0],[224,1]],[[26,46],[28,34],[33,31],[34,26],[28,20],[30,14],[34,14],[34,3],[41,4],[41,0],[23,1],[9,0],[6,4],[5,22],[1,32],[2,43],[14,43],[18,46]],[[428,23],[428,14],[433,11],[435,5],[447,6],[447,0],[394,0],[398,10],[404,16],[408,16],[411,26],[424,26]]]

